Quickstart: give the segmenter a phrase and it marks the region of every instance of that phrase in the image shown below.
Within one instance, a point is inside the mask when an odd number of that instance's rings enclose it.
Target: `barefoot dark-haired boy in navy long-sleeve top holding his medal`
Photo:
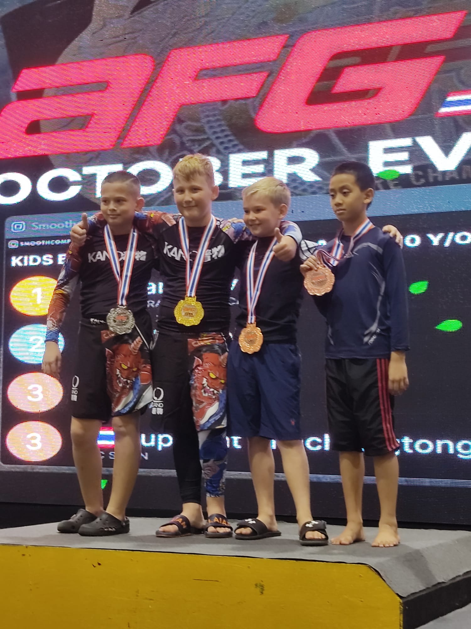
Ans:
[[[364,452],[374,459],[381,505],[379,532],[372,545],[392,547],[399,544],[395,454],[399,444],[394,435],[393,396],[409,386],[403,257],[398,245],[366,216],[374,196],[374,175],[367,165],[339,165],[329,192],[342,230],[301,265],[301,272],[306,275],[327,262],[335,275],[332,291],[314,298],[327,321],[327,417],[332,449],[340,452],[347,509],[347,526],[332,543],[364,540]]]

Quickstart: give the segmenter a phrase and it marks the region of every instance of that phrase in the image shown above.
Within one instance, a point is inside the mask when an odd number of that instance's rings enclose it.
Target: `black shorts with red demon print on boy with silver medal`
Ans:
[[[72,379],[72,416],[102,420],[144,413],[152,401],[152,325],[148,313],[136,317],[129,334],[115,334],[106,321],[82,319],[77,365]]]

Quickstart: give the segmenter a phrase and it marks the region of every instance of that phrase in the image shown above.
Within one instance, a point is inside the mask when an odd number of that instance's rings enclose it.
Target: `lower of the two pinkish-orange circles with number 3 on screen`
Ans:
[[[6,436],[6,447],[17,459],[46,461],[62,447],[62,437],[45,421],[24,421],[13,426]]]

